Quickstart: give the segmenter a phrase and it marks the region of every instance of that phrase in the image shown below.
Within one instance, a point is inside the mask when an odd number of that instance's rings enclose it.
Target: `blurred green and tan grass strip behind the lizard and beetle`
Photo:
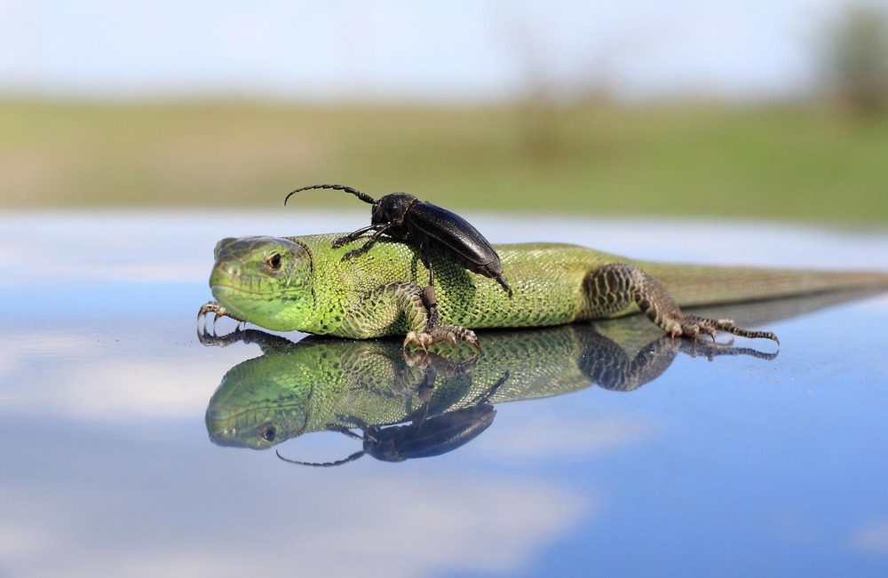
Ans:
[[[281,207],[888,222],[888,118],[807,106],[0,101],[0,207]],[[357,209],[314,191],[297,207]],[[291,209],[292,210],[292,209]]]

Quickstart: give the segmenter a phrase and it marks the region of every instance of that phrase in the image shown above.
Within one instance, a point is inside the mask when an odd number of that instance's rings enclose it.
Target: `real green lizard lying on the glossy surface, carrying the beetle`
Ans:
[[[353,246],[331,247],[342,234],[224,239],[216,247],[210,287],[214,313],[266,329],[364,339],[400,335],[422,347],[462,340],[470,329],[521,328],[611,318],[639,309],[673,337],[742,337],[729,320],[686,315],[678,305],[713,305],[864,286],[888,288],[888,273],[817,273],[645,263],[554,243],[496,245],[514,295],[492,279],[432,256],[440,321],[430,319],[428,279],[416,249],[380,239],[343,261]]]

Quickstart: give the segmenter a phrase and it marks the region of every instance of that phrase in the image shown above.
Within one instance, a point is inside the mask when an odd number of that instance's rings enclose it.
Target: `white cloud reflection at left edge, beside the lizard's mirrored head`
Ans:
[[[179,349],[158,358],[131,337],[105,341],[71,330],[19,333],[0,347],[0,408],[88,421],[202,416],[230,365],[225,355]]]

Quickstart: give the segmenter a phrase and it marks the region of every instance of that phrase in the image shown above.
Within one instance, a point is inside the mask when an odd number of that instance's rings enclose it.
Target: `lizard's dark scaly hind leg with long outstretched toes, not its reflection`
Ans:
[[[584,289],[592,317],[622,313],[634,302],[648,319],[672,337],[695,338],[702,333],[714,340],[716,331],[725,331],[740,337],[763,337],[780,343],[770,331],[741,329],[729,319],[716,320],[682,313],[669,290],[635,265],[602,265],[589,273]]]

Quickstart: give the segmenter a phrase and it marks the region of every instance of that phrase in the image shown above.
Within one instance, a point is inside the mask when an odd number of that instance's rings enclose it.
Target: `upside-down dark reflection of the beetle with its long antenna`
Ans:
[[[479,403],[471,408],[457,409],[440,416],[417,420],[407,425],[389,427],[370,426],[360,436],[351,430],[339,430],[345,435],[362,439],[360,452],[337,462],[311,463],[291,460],[277,452],[284,462],[330,467],[353,462],[361,455],[369,454],[383,462],[403,462],[416,457],[443,455],[461,447],[488,429],[494,421],[496,410],[489,403]]]

